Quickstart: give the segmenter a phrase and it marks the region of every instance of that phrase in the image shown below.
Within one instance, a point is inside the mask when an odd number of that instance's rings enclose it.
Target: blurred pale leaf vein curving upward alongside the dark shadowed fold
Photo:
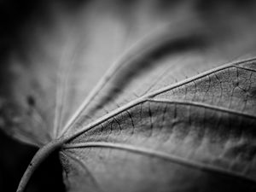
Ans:
[[[105,84],[108,84],[109,80],[112,79],[113,75],[119,71],[119,68],[125,64],[129,64],[134,61],[138,56],[145,55],[148,52],[158,48],[163,42],[166,43],[167,41],[171,41],[178,37],[187,37],[191,36],[189,30],[184,30],[184,34],[180,34],[180,32],[175,33],[174,30],[173,35],[171,36],[168,30],[169,25],[164,25],[154,32],[150,32],[146,34],[143,38],[140,38],[132,44],[130,48],[126,49],[125,52],[119,56],[119,58],[113,62],[113,64],[108,68],[108,71],[102,76],[102,78],[97,82],[96,86],[93,90],[90,91],[89,95],[85,97],[84,101],[81,103],[80,107],[73,113],[73,116],[68,119],[67,124],[61,130],[61,136],[63,136],[76,122],[79,118],[80,114],[83,113],[84,109],[88,107],[90,102],[93,100],[95,96],[102,90]],[[166,32],[167,31],[167,32]],[[167,33],[167,35],[166,35]],[[169,35],[168,35],[169,34]],[[194,33],[192,33],[193,35]],[[148,43],[149,42],[149,43]],[[149,44],[149,46],[145,46]]]

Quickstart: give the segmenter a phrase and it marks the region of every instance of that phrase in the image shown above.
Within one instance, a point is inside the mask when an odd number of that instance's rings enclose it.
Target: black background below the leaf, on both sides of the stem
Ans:
[[[38,148],[16,142],[0,131],[0,191],[16,191],[26,166],[37,150]],[[26,192],[43,191],[65,191],[57,152],[38,167],[26,189]]]

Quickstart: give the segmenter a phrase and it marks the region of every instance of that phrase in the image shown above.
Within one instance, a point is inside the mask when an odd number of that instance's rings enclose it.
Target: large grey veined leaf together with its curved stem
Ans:
[[[40,147],[18,191],[54,150],[68,191],[255,189],[246,13],[215,24],[191,3],[51,10],[52,27],[33,26],[10,56],[1,94],[3,130]]]

